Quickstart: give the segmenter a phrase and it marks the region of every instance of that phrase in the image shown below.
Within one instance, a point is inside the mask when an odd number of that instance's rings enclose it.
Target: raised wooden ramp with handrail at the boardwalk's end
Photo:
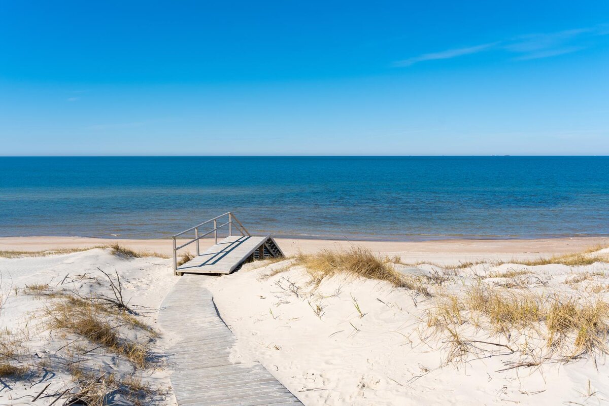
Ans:
[[[228,216],[228,221],[218,225],[219,219]],[[221,221],[220,221],[221,222]],[[206,224],[213,224],[213,229],[206,233],[200,233],[200,228]],[[234,224],[234,226],[233,226]],[[218,239],[218,230],[221,227],[227,227],[228,236],[224,239]],[[233,230],[236,229],[239,234],[233,235]],[[194,232],[194,239],[187,241],[181,246],[177,246],[178,236],[188,232]],[[205,252],[201,253],[199,249],[199,240],[205,236],[214,233],[215,244],[209,247]],[[258,260],[262,258],[281,257],[284,256],[281,249],[277,246],[275,240],[270,235],[253,236],[243,227],[241,222],[234,216],[234,213],[228,212],[224,215],[202,222],[195,227],[191,227],[181,233],[173,236],[174,239],[174,272],[177,275],[183,274],[230,274],[234,270],[239,269],[242,264],[248,261]],[[185,263],[178,263],[178,250],[195,244],[196,255]]]

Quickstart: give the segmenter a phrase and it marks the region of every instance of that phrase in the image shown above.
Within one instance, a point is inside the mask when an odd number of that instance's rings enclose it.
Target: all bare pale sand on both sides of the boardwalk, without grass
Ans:
[[[60,244],[53,240],[2,238],[0,250],[99,244],[97,239],[65,238],[59,241]],[[600,241],[574,238],[363,244],[387,255],[400,253],[405,261],[459,263],[482,258],[538,258],[576,252]],[[348,246],[344,242],[323,240],[280,240],[280,244],[287,253],[298,249],[318,250],[337,244]],[[166,240],[130,242],[130,246],[136,249],[164,253],[167,245]],[[98,266],[104,270],[116,269],[124,280],[125,295],[130,298],[130,303],[146,306],[149,312],[144,318],[154,326],[164,295],[179,278],[172,275],[170,264],[171,260],[152,257],[125,260],[111,255],[109,250],[100,249],[38,258],[0,258],[2,292],[9,294],[13,287],[32,283],[60,283],[66,274],[99,274]],[[406,289],[393,289],[387,283],[371,280],[333,278],[311,291],[309,278],[303,269],[295,267],[264,279],[263,275],[275,267],[284,266],[284,263],[253,269],[260,265],[248,264],[236,274],[225,277],[207,277],[208,286],[214,293],[220,315],[239,338],[238,346],[233,349],[234,359],[242,362],[259,360],[307,406],[558,405],[569,404],[567,402],[597,405],[609,399],[609,366],[604,357],[597,357],[596,365],[590,359],[582,359],[498,372],[509,366],[507,363],[517,361],[521,354],[496,355],[502,352],[502,348],[482,345],[484,356],[491,357],[477,360],[471,357],[467,362],[446,364],[445,343],[430,338],[424,322],[421,322],[426,309],[432,306],[431,300],[414,297]],[[504,264],[499,269],[510,267],[522,268]],[[476,272],[488,271],[482,269],[484,266],[479,268]],[[428,273],[431,269],[431,266],[418,269],[401,267],[403,272],[413,274]],[[547,281],[549,287],[565,287],[563,281],[573,272],[596,270],[609,274],[607,264],[577,269],[548,265],[531,270]],[[472,272],[467,270],[463,273],[463,283],[471,282]],[[493,280],[486,283],[493,283]],[[77,283],[75,287],[84,293],[104,289],[86,283]],[[297,288],[297,294],[292,292]],[[364,317],[359,316],[354,301]],[[17,330],[29,323],[32,328],[35,324],[32,315],[42,305],[32,297],[9,294],[0,314],[0,325]],[[316,311],[320,312],[320,317],[315,315]],[[483,331],[471,329],[465,333],[470,339],[507,343],[505,339],[489,337]],[[159,351],[171,345],[171,331],[163,334],[163,339],[157,343]],[[32,351],[45,354],[44,348],[57,347],[58,343],[53,340],[57,338],[43,332],[32,332],[30,346]],[[116,357],[99,357],[99,361],[119,370],[124,368]],[[170,372],[157,371],[150,380],[155,385],[168,387],[167,374]],[[44,385],[51,382],[47,391],[51,393],[66,387],[68,380],[68,376],[58,374]],[[37,393],[44,385],[32,388],[29,384],[27,387],[14,385],[12,390],[4,389],[0,391],[0,404],[17,403],[10,399]],[[22,398],[19,402],[27,399],[31,398]],[[36,404],[44,405],[51,401],[52,398],[39,399]],[[169,397],[166,404],[175,404],[175,399]]]

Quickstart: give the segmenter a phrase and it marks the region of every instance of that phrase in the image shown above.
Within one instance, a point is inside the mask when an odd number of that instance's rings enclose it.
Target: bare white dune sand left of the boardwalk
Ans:
[[[108,286],[99,285],[89,280],[88,277],[105,276],[97,269],[105,270],[113,274],[118,272],[122,279],[122,288],[125,302],[133,306],[141,313],[141,321],[157,328],[158,308],[164,296],[177,280],[172,272],[170,261],[161,258],[118,258],[110,253],[110,250],[93,249],[85,252],[71,253],[67,255],[51,255],[44,257],[26,258],[0,258],[0,275],[2,284],[0,295],[5,298],[4,306],[0,310],[0,326],[2,329],[19,335],[19,332],[26,332],[29,335],[27,346],[31,353],[38,356],[54,357],[56,350],[72,337],[66,340],[60,334],[47,331],[40,326],[40,309],[49,303],[48,300],[41,300],[32,295],[15,294],[15,287],[23,288],[32,284],[46,284],[51,286],[66,287],[77,289],[81,295],[104,293],[111,295]],[[64,280],[64,278],[67,278]],[[81,278],[79,275],[85,275]],[[63,281],[63,285],[60,285]],[[171,342],[171,332],[163,332],[164,339],[156,343],[156,351],[164,353]],[[121,357],[104,353],[102,350],[92,351],[88,356],[91,359],[109,368],[122,373],[132,373],[132,367]],[[54,371],[54,376],[44,376],[43,373],[32,378],[33,382],[40,383],[30,388],[30,381],[27,385],[12,384],[12,390],[4,388],[0,391],[0,404],[27,404],[32,397],[39,393],[46,384],[51,384],[47,394],[61,393],[71,384],[68,374]],[[43,380],[44,376],[44,380]],[[144,377],[154,387],[169,388],[169,371],[146,371]],[[10,379],[5,379],[10,382]],[[17,400],[18,399],[18,400]],[[54,398],[47,397],[38,399],[35,405],[50,404]],[[60,401],[57,404],[62,404]],[[169,396],[165,404],[175,404],[175,398]]]

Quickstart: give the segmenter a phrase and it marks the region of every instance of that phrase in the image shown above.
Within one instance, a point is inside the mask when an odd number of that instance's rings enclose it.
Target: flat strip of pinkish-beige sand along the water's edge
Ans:
[[[608,237],[562,237],[527,239],[442,239],[432,241],[355,241],[339,239],[275,238],[286,255],[322,249],[363,247],[376,253],[400,253],[409,261],[433,260],[439,263],[471,260],[535,259],[582,252],[594,246],[609,245]],[[183,244],[187,239],[178,240]],[[0,237],[0,251],[36,252],[52,249],[83,249],[119,244],[129,249],[172,255],[171,239],[122,239],[71,236]],[[213,245],[213,238],[200,240],[200,248]],[[184,249],[194,252],[194,244]],[[180,250],[181,253],[183,252]]]

